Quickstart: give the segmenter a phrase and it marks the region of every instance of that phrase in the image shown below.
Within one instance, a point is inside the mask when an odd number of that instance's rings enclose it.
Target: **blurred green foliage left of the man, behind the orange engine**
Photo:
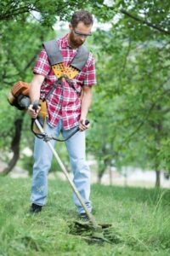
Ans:
[[[12,85],[18,81],[31,82],[32,68],[37,59],[42,41],[54,37],[54,32],[47,27],[42,27],[35,22],[23,20],[8,20],[2,23],[3,37],[2,46],[2,68],[0,70],[0,99],[1,99],[1,139],[0,148],[3,150],[1,159],[8,162],[11,153],[11,143],[14,138],[16,119],[23,119],[22,137],[20,149],[28,145],[33,148],[33,135],[30,131],[31,119],[26,112],[11,107],[7,101],[7,95]],[[21,155],[22,160],[24,160]],[[26,160],[24,166],[31,165]],[[28,168],[29,170],[29,168]]]

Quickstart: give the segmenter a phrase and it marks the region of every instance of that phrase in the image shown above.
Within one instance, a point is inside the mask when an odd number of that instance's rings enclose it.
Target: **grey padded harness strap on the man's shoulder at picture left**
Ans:
[[[44,42],[42,45],[44,46],[48,54],[48,59],[51,66],[63,62],[63,56],[60,53],[59,46],[55,39],[48,42]]]

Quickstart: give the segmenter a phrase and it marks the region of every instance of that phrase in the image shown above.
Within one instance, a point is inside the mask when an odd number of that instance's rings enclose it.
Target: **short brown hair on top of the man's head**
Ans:
[[[75,12],[71,17],[71,25],[77,27],[79,22],[83,22],[84,25],[90,26],[94,24],[93,16],[86,10],[79,10]]]

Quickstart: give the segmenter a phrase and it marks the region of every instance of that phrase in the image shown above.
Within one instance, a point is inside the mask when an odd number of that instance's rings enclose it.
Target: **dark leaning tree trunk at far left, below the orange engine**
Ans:
[[[8,166],[1,172],[1,175],[7,175],[9,172],[12,171],[14,166],[16,165],[17,161],[20,157],[20,137],[21,137],[21,130],[22,130],[23,119],[16,119],[14,121],[14,137],[11,142],[11,150],[13,151],[13,157],[8,162]]]

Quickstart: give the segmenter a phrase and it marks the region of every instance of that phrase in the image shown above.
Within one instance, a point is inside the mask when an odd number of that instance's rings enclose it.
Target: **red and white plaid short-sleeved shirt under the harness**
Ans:
[[[68,35],[63,38],[59,38],[56,41],[59,45],[59,49],[63,56],[65,65],[70,65],[73,57],[77,54],[77,49],[71,49],[68,44]],[[41,98],[48,94],[48,91],[53,87],[57,77],[54,75],[49,61],[48,55],[45,49],[42,49],[36,66],[33,69],[33,73],[41,74],[45,77],[41,86]],[[86,65],[82,68],[82,71],[71,80],[77,91],[82,90],[82,86],[92,86],[96,84],[95,80],[95,68],[94,57],[90,53]],[[54,92],[48,96],[48,124],[55,127],[59,122],[59,119],[63,119],[63,125],[65,130],[69,130],[78,125],[78,120],[81,115],[81,99],[77,96],[77,92],[71,88],[71,86],[64,81],[63,93],[61,85],[58,84]]]

